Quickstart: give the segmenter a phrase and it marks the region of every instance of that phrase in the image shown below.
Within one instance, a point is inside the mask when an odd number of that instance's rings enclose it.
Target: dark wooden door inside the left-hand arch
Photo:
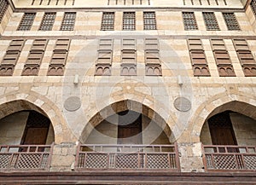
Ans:
[[[50,121],[41,113],[30,112],[20,144],[44,145],[48,136]]]

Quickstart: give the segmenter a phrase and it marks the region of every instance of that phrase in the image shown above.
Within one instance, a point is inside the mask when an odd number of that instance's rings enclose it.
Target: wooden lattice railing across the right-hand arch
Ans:
[[[207,171],[256,171],[256,146],[204,145]]]

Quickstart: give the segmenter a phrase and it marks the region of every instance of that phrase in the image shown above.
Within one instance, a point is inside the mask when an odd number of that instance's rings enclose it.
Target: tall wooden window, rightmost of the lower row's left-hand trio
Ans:
[[[49,76],[61,76],[64,74],[64,66],[67,61],[70,39],[58,39],[49,64]]]

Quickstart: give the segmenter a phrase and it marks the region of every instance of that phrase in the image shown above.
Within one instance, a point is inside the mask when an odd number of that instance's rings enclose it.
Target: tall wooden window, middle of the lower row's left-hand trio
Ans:
[[[44,51],[48,43],[47,39],[35,39],[26,60],[22,75],[38,75]]]

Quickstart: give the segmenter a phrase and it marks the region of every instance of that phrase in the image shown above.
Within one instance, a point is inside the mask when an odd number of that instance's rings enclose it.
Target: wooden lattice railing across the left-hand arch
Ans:
[[[0,171],[47,171],[52,145],[0,145]]]

